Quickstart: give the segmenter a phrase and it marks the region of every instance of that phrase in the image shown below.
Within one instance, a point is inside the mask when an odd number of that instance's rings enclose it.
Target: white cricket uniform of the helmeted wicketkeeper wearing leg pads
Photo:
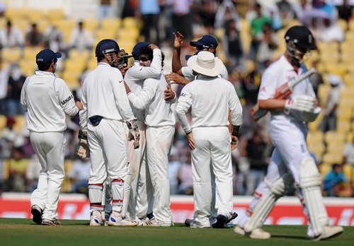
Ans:
[[[122,187],[127,174],[125,121],[135,118],[120,71],[98,62],[97,68],[85,78],[81,102],[84,108],[79,114],[80,127],[87,128],[92,163],[89,177],[90,209],[103,211],[102,199],[93,198],[93,195],[90,197],[90,189],[102,190],[108,175],[112,180],[113,211],[120,211],[118,208],[122,206]],[[94,126],[89,118],[97,115],[103,118]]]

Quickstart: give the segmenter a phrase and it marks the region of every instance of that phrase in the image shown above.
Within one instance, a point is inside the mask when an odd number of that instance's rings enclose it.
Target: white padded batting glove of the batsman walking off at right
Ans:
[[[298,110],[302,112],[313,112],[316,105],[316,98],[309,95],[296,95],[285,101],[284,112],[289,115],[290,110]]]

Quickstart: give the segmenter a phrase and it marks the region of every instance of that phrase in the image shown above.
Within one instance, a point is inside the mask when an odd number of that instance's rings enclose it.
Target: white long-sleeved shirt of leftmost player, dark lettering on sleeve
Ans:
[[[64,131],[65,113],[79,112],[65,81],[45,71],[35,71],[35,75],[26,78],[21,104],[28,112],[27,129],[36,132]]]

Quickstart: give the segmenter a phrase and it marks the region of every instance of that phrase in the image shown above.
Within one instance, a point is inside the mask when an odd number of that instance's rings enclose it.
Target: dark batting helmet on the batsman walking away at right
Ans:
[[[317,49],[314,43],[314,36],[309,28],[303,25],[295,25],[289,28],[289,30],[285,33],[285,40],[286,42],[292,40],[297,47]]]

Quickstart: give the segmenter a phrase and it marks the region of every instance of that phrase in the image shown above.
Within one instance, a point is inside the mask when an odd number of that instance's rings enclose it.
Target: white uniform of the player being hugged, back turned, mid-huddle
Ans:
[[[145,112],[147,125],[147,165],[154,187],[154,217],[161,223],[172,223],[170,208],[169,155],[171,152],[176,119],[171,105],[176,101],[164,100],[166,78],[147,78],[139,95],[129,93],[133,107]]]

